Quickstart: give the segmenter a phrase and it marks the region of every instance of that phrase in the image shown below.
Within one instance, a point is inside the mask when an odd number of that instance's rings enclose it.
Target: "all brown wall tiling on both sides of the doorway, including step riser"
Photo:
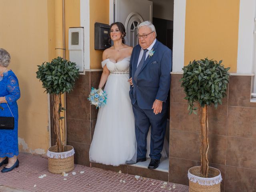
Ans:
[[[94,106],[90,106],[87,97],[90,88],[98,86],[101,73],[80,75],[74,90],[66,95],[67,144],[74,146],[75,162],[86,166],[90,166],[89,149],[98,113]],[[169,181],[188,185],[188,169],[200,165],[200,124],[197,115],[188,115],[185,94],[179,82],[181,77],[181,74],[172,74]],[[222,192],[253,192],[256,189],[256,103],[250,103],[250,84],[251,76],[231,76],[223,104],[217,110],[209,108],[208,159],[210,166],[221,171]],[[51,133],[54,144],[52,130]],[[97,163],[92,166],[168,180],[168,173],[156,170]]]

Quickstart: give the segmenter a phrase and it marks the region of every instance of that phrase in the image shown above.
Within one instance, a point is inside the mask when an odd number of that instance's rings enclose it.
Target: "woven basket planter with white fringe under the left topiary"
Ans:
[[[55,174],[70,172],[74,170],[74,148],[70,145],[64,146],[64,152],[58,153],[57,146],[48,149],[48,171]]]

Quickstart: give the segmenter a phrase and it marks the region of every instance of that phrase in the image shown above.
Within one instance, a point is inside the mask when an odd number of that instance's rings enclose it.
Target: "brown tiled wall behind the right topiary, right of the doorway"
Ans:
[[[169,181],[188,185],[188,169],[200,165],[200,124],[197,115],[188,115],[180,78],[182,74],[172,74]],[[256,191],[256,103],[250,103],[251,78],[231,76],[223,104],[208,110],[208,159],[221,171],[222,192]]]

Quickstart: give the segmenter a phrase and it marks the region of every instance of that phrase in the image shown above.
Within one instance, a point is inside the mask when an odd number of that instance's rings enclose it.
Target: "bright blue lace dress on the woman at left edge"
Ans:
[[[14,116],[14,130],[0,129],[0,157],[13,157],[19,154],[18,149],[18,105],[20,88],[16,75],[11,70],[0,76],[0,97],[6,98],[12,113],[6,103],[0,103],[4,110],[0,109],[0,116]]]

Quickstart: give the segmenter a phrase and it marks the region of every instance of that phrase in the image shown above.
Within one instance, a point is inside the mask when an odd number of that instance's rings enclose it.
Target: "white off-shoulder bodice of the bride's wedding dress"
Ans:
[[[130,58],[131,56],[128,56],[121,61],[118,62],[112,62],[109,58],[105,59],[101,62],[102,68],[104,68],[105,65],[107,65],[108,70],[110,72],[129,72],[129,64],[130,64]]]

